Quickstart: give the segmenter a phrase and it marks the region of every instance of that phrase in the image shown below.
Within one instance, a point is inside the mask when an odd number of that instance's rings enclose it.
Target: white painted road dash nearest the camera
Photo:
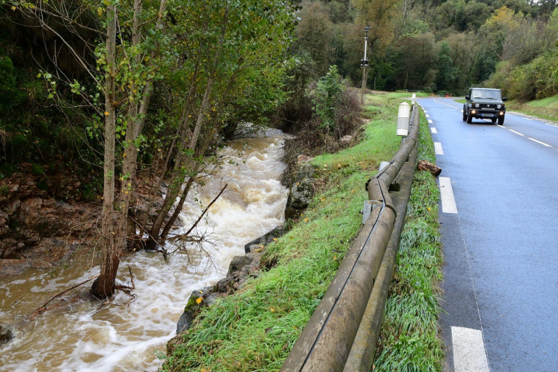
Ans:
[[[478,329],[451,327],[455,372],[488,372],[483,332]]]

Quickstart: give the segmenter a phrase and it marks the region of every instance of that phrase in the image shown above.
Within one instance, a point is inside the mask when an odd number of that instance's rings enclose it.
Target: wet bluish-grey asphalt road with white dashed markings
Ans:
[[[558,371],[558,127],[417,101],[442,168],[446,369]]]

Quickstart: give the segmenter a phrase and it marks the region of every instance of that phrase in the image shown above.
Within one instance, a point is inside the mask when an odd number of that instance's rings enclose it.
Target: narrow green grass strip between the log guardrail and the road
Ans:
[[[435,161],[423,114],[418,159]],[[430,172],[416,172],[377,343],[375,371],[442,370],[444,352],[437,336],[438,283],[442,280],[438,198]]]

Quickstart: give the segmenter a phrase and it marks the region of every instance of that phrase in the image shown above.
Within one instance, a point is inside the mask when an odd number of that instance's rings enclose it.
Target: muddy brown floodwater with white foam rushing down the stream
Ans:
[[[175,335],[190,293],[216,283],[225,276],[232,257],[244,253],[245,244],[282,223],[287,198],[279,181],[285,170],[283,141],[280,131],[268,131],[264,137],[234,140],[223,149],[229,161],[204,186],[195,187],[180,216],[183,227],[175,231],[188,230],[228,184],[197,229],[211,232],[213,244],[204,245],[211,258],[193,249],[188,259],[175,255],[166,263],[158,253],[124,258],[119,281],[130,284],[130,267],[137,297],[129,306],[123,306],[129,300],[123,293],[100,310],[98,303],[84,301],[68,306],[72,299],[68,296],[61,297],[65,302],[51,302],[66,306],[29,320],[29,314],[54,295],[98,274],[98,267],[87,271],[88,262],[70,262],[54,277],[28,270],[0,279],[0,323],[15,325],[17,333],[0,347],[0,371],[156,371],[160,366],[156,352],[164,352]],[[82,292],[90,285],[82,286]]]

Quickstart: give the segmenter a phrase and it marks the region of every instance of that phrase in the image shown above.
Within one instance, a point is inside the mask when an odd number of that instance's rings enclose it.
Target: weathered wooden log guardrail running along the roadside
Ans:
[[[416,105],[409,124],[409,136],[398,153],[367,182],[370,217],[281,371],[371,370],[415,169]],[[390,191],[393,181],[400,191]]]

